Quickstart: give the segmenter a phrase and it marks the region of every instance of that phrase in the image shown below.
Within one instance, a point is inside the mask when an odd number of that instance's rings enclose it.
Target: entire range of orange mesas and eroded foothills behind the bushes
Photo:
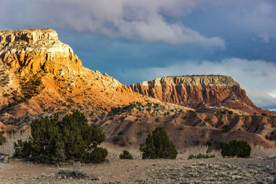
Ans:
[[[230,139],[275,147],[269,141],[276,135],[275,116],[255,107],[229,76],[171,76],[127,86],[84,68],[55,30],[0,31],[3,135],[74,110],[119,145],[139,145],[163,126],[177,148]]]

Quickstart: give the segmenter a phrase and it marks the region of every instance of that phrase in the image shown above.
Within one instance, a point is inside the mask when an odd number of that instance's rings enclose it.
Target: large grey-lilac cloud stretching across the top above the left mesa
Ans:
[[[103,34],[130,41],[224,47],[179,22],[200,0],[1,0],[0,21],[7,27],[50,27]],[[178,21],[166,21],[175,18]]]

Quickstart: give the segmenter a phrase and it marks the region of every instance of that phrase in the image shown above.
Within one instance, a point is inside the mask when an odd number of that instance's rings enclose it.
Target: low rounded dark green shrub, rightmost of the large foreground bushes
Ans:
[[[228,143],[224,143],[224,146],[221,150],[222,156],[237,156],[237,157],[248,157],[250,156],[251,147],[250,145],[243,140],[237,141],[232,140]]]

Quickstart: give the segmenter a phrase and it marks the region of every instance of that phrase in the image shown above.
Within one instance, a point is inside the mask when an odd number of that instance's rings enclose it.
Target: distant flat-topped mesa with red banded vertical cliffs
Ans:
[[[167,76],[132,84],[130,88],[160,101],[190,108],[225,106],[249,114],[262,114],[262,110],[250,101],[246,92],[230,76]]]

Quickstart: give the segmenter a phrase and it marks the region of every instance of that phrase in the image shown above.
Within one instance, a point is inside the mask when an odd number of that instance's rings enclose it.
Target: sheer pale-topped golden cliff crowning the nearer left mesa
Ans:
[[[81,61],[50,29],[0,31],[0,61],[21,75],[81,71]]]

